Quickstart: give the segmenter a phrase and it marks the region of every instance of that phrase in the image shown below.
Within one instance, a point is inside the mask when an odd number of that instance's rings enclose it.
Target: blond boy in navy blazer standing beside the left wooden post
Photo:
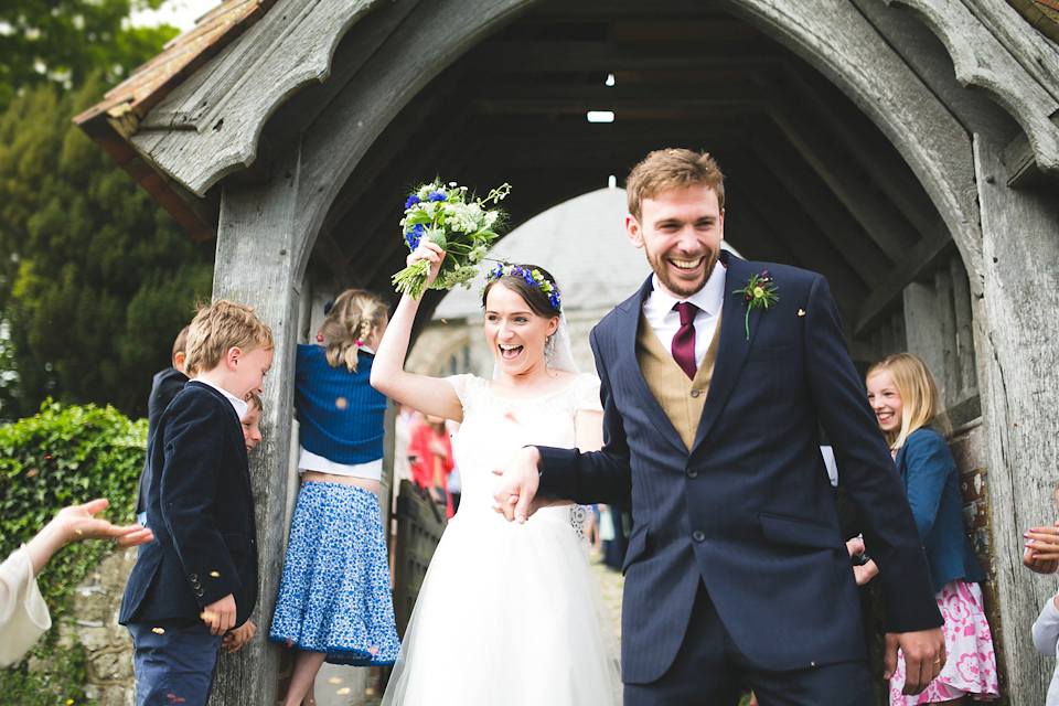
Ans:
[[[272,362],[272,333],[253,309],[217,301],[188,333],[191,377],[148,445],[143,545],[118,621],[136,646],[137,706],[204,706],[217,649],[253,637],[257,527],[239,419]]]

